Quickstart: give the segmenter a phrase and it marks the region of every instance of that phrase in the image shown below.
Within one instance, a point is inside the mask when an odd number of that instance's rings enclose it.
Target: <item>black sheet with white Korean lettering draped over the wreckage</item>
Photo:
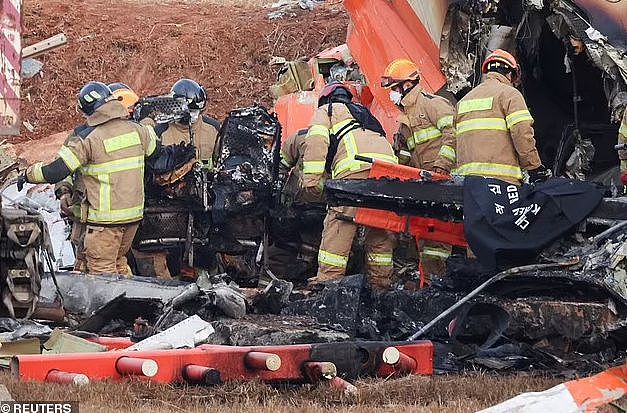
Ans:
[[[464,179],[464,232],[489,270],[532,264],[601,202],[593,184],[553,178],[516,186],[493,178]]]

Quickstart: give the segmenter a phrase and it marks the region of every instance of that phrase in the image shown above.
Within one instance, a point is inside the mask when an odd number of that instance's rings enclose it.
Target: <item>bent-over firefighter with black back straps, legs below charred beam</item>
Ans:
[[[366,125],[373,121],[378,124],[378,121],[366,108],[351,100],[351,93],[339,82],[327,85],[320,94],[303,151],[304,191],[311,196],[321,196],[325,173],[333,179],[366,179],[371,164],[356,160],[356,155],[397,163],[385,136]],[[358,121],[354,115],[358,110],[370,118]],[[328,208],[318,252],[318,274],[310,280],[312,284],[345,275],[357,232],[357,225],[350,221],[355,212],[354,207]],[[386,289],[393,269],[394,237],[385,230],[366,230],[368,282],[374,288]]]

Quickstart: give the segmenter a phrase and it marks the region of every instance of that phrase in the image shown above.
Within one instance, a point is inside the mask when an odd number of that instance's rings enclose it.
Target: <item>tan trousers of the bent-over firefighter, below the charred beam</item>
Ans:
[[[345,275],[357,225],[342,218],[353,218],[356,210],[346,206],[329,209],[318,252],[318,274],[311,279],[312,283],[337,280]],[[389,231],[366,228],[365,246],[368,283],[377,289],[389,288],[394,236]]]

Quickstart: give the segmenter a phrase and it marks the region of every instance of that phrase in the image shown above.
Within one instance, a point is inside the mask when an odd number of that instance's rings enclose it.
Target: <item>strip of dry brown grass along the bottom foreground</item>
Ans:
[[[326,386],[270,387],[228,383],[217,387],[174,387],[154,383],[93,383],[77,388],[16,383],[0,376],[18,401],[78,401],[81,412],[474,412],[525,391],[545,390],[557,379],[533,376],[405,377],[363,380],[359,395],[347,398]]]

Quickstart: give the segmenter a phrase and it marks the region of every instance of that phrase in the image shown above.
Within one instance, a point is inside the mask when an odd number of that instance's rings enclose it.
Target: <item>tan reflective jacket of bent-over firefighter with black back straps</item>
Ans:
[[[392,146],[384,136],[361,127],[347,128],[355,119],[346,105],[331,105],[331,117],[328,105],[321,106],[314,113],[309,132],[304,139],[303,185],[305,191],[312,195],[319,196],[324,185],[325,164],[332,134],[339,139],[330,168],[333,179],[350,179],[351,175],[370,169],[370,163],[355,160],[355,155],[398,163]]]

